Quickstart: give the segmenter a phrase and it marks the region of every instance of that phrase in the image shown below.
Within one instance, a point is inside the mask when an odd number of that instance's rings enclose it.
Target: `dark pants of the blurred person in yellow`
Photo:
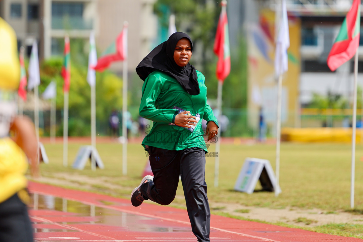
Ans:
[[[17,194],[0,203],[0,242],[33,242],[28,209]]]

